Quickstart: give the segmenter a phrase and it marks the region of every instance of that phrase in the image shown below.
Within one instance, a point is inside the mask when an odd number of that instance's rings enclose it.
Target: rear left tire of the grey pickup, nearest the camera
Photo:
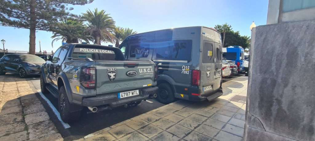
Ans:
[[[60,117],[65,123],[76,122],[81,118],[81,111],[71,112],[70,106],[67,93],[62,86],[59,90],[58,108]]]

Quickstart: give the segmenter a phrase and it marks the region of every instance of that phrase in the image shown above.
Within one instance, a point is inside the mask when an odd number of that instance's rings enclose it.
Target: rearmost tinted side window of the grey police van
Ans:
[[[155,51],[154,59],[190,61],[191,40],[159,41],[150,43],[150,46],[154,48]]]

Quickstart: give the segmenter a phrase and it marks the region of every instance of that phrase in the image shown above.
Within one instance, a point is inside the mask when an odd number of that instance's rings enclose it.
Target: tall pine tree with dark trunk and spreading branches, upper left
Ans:
[[[36,30],[49,31],[70,14],[67,4],[84,5],[93,0],[0,0],[0,24],[30,29],[30,54],[35,54]]]

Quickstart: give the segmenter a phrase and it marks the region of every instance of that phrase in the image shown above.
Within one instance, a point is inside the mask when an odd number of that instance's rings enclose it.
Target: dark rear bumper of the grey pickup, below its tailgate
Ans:
[[[131,91],[131,90],[130,90]],[[150,87],[140,89],[140,94],[136,96],[119,99],[117,93],[112,94],[98,94],[94,97],[86,97],[82,100],[82,106],[101,106],[108,105],[112,108],[123,106],[132,102],[151,99],[153,94],[158,94],[158,87]],[[150,96],[152,95],[152,96]]]

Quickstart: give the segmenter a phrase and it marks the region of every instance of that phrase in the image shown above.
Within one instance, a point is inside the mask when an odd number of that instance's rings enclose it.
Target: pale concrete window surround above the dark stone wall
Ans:
[[[269,0],[267,24],[294,22],[315,19],[315,8],[283,12],[283,0]]]

